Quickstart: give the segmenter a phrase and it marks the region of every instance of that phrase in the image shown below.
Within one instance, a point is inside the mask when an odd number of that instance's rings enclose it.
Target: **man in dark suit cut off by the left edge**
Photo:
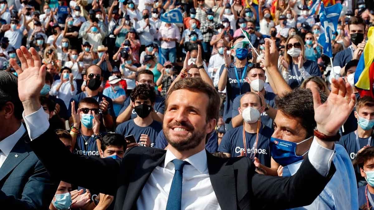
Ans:
[[[26,143],[17,78],[6,71],[0,71],[0,105],[0,208],[47,209],[57,185]]]

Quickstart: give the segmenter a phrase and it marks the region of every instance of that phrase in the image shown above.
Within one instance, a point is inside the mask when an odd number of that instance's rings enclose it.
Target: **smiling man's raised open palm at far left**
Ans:
[[[18,95],[24,106],[25,115],[40,108],[39,95],[45,84],[46,75],[46,65],[42,65],[34,47],[30,48],[30,52],[24,46],[16,50],[21,67],[18,66],[16,59],[10,59],[10,65],[18,74]]]

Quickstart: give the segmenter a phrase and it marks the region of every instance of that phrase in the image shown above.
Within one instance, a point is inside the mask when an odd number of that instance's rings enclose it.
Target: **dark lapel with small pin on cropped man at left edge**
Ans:
[[[18,140],[6,157],[3,165],[0,168],[0,181],[6,177],[22,160],[24,160],[29,153],[25,150],[26,143],[24,138],[27,138],[27,132]]]

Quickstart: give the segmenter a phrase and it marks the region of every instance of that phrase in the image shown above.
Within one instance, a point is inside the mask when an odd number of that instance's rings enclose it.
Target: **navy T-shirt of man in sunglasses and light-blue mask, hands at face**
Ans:
[[[73,153],[86,156],[100,155],[99,149],[97,148],[96,139],[93,136],[85,136],[82,134],[77,136],[77,143],[74,146]]]

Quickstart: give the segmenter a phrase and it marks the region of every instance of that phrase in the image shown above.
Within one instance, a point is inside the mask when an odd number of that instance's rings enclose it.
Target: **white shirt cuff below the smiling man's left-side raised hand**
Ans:
[[[31,140],[38,138],[49,128],[49,121],[47,120],[47,114],[44,112],[43,107],[34,113],[25,116],[25,111],[22,113],[24,118],[28,136]]]

